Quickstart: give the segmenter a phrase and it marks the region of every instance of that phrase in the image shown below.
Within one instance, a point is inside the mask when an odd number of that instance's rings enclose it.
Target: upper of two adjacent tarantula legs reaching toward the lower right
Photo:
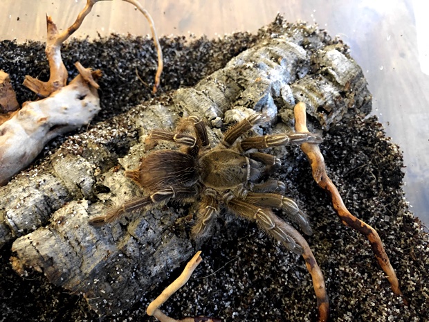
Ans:
[[[246,202],[250,202],[250,204],[255,204],[256,206],[281,208],[293,222],[300,226],[300,229],[306,235],[313,234],[307,214],[302,212],[291,198],[277,195],[276,193],[248,193]]]

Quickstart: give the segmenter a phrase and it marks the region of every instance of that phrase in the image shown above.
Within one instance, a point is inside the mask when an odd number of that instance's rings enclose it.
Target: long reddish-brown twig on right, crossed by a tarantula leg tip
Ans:
[[[297,132],[309,132],[306,125],[305,109],[306,106],[303,102],[299,102],[295,105],[295,130]],[[318,145],[315,143],[303,143],[301,145],[301,150],[307,154],[313,171],[314,180],[321,188],[331,195],[332,204],[338,213],[338,216],[340,216],[340,220],[346,226],[352,227],[356,231],[363,233],[363,235],[368,238],[372,251],[378,260],[378,264],[387,275],[387,280],[389,280],[394,294],[402,295],[401,289],[399,289],[398,278],[396,278],[394,269],[392,265],[390,265],[389,258],[387,257],[387,253],[385,252],[380,236],[378,236],[378,233],[372,228],[372,226],[369,226],[368,224],[365,224],[365,222],[354,217],[354,215],[347,210],[340,193],[338,193],[338,189],[327,175],[325,160],[323,159],[322,153],[320,153]]]

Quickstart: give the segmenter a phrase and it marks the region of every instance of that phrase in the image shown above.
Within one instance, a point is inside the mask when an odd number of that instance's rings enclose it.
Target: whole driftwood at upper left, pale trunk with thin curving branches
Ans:
[[[6,184],[21,169],[26,168],[48,141],[82,125],[88,125],[95,114],[100,111],[100,100],[96,91],[99,86],[96,80],[100,78],[101,72],[91,72],[90,69],[84,69],[77,62],[75,66],[80,75],[66,86],[69,73],[61,56],[62,44],[82,25],[84,18],[89,15],[92,7],[98,1],[103,0],[87,0],[86,6],[79,13],[74,23],[62,33],[58,31],[52,18],[46,16],[45,53],[51,72],[50,78],[44,82],[26,75],[24,80],[24,86],[45,99],[26,102],[19,112],[0,116],[0,186]],[[154,85],[154,91],[156,91],[160,84],[163,57],[154,29],[154,22],[137,0],[124,1],[137,6],[149,21],[158,51],[158,71]],[[0,84],[4,78],[5,86],[0,87],[0,113],[3,109],[2,105],[5,105],[6,111],[11,111],[12,108],[17,109],[13,106],[11,87],[6,86],[8,78],[4,74],[1,71]]]

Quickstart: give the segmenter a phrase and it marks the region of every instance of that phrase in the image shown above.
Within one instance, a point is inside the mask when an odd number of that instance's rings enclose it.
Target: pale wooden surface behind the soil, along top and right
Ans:
[[[86,0],[1,0],[0,39],[46,39],[45,15],[70,26]],[[140,3],[158,35],[219,37],[255,32],[277,12],[318,23],[352,48],[374,97],[373,113],[404,152],[405,192],[429,224],[429,1],[419,0],[160,0]],[[96,3],[75,37],[149,34],[140,12],[120,0]],[[0,66],[1,69],[1,66]]]

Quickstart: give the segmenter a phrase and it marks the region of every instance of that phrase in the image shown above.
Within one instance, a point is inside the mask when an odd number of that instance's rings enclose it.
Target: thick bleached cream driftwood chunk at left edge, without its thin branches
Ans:
[[[93,75],[98,78],[100,74]],[[24,104],[0,125],[0,186],[28,166],[48,141],[89,124],[98,111],[97,90],[81,75],[54,96]]]

